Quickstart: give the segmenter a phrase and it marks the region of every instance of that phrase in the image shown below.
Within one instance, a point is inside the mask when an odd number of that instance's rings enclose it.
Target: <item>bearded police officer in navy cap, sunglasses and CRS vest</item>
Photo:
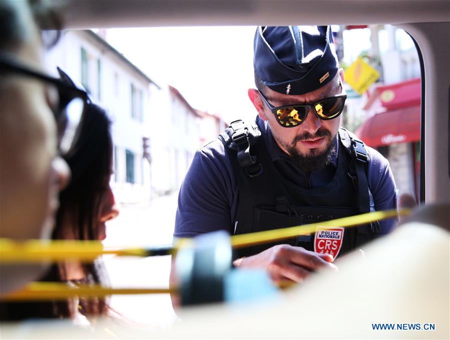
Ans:
[[[339,128],[346,99],[330,26],[258,27],[255,122],[235,121],[194,156],[175,237],[251,233],[391,209],[388,161]],[[234,265],[301,282],[379,235],[392,221],[318,230],[236,253]]]

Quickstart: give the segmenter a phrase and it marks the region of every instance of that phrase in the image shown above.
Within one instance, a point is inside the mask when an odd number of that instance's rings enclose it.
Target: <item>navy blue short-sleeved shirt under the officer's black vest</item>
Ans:
[[[330,164],[307,176],[276,144],[267,122],[258,117],[256,122],[275,166],[286,179],[306,189],[324,187],[331,182],[336,172],[337,153],[345,151],[337,148]],[[367,181],[375,210],[393,209],[395,182],[389,163],[375,149],[368,146],[365,148],[370,159]],[[233,167],[225,153],[225,146],[216,139],[197,150],[194,155],[178,196],[174,236],[191,237],[216,230],[226,230],[232,234],[238,197]],[[380,225],[381,234],[387,234],[393,227],[393,221],[380,221]]]

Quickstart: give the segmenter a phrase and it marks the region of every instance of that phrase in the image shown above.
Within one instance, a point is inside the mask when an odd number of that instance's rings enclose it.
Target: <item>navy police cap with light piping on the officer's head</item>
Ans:
[[[256,74],[264,85],[283,94],[317,90],[338,70],[330,26],[259,26],[254,53]]]

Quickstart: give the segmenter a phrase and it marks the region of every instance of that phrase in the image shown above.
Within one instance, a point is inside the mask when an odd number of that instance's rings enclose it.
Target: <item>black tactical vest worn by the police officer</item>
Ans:
[[[225,145],[238,182],[239,202],[234,234],[317,223],[374,211],[367,185],[364,144],[339,128],[337,169],[322,188],[304,189],[286,180],[273,164],[255,123],[232,122],[219,138]],[[344,151],[345,150],[345,151]],[[379,223],[344,229],[339,256],[370,241]],[[276,244],[314,250],[314,234],[240,249],[235,258],[257,254]]]

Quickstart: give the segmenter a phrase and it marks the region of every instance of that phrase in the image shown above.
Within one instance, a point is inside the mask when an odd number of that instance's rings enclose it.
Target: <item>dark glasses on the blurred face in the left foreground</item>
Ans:
[[[52,111],[58,126],[59,151],[62,155],[67,154],[76,141],[80,122],[86,111],[87,93],[75,86],[68,85],[59,78],[53,78],[40,71],[33,70],[12,55],[0,54],[0,74],[10,72],[31,76],[56,87],[59,94],[59,104]]]

